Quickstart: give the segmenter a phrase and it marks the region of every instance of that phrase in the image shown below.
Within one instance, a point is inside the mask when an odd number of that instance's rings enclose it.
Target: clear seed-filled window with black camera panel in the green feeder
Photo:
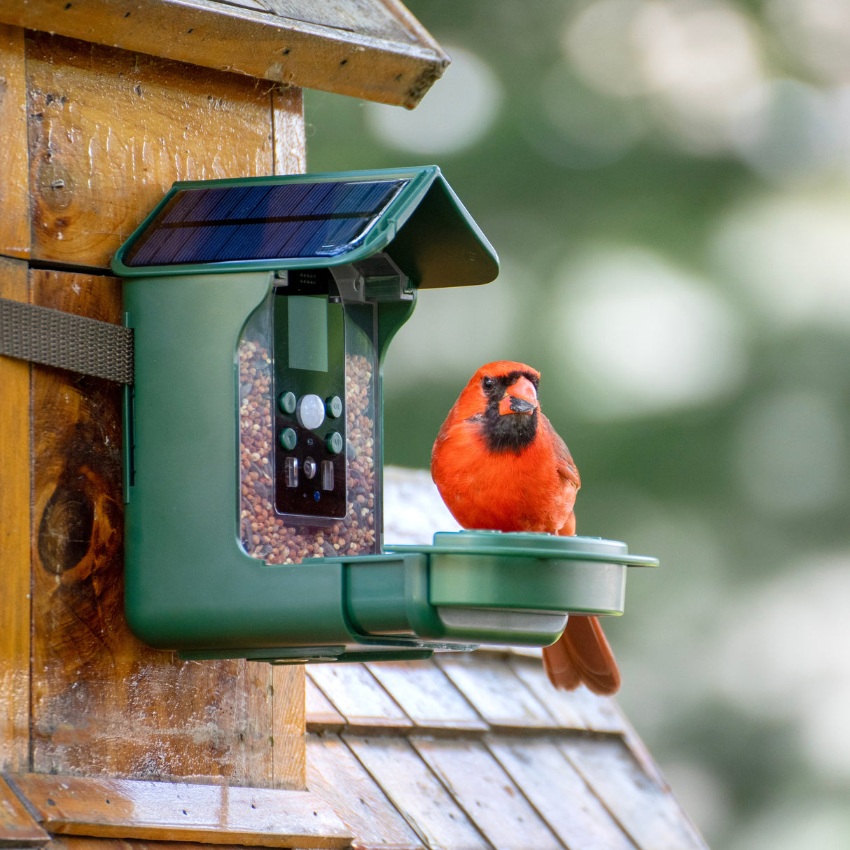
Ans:
[[[253,558],[380,551],[375,325],[327,269],[290,272],[246,323],[239,528]]]

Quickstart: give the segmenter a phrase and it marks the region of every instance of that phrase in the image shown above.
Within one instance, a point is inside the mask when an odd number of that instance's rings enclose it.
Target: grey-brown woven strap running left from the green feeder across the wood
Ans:
[[[0,354],[133,383],[133,330],[0,298]]]

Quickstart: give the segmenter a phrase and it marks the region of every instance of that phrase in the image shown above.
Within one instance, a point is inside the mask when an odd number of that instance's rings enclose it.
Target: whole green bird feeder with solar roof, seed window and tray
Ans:
[[[620,614],[625,544],[382,544],[382,362],[418,292],[496,254],[437,167],[177,183],[121,247],[125,609],[184,658],[543,646]]]

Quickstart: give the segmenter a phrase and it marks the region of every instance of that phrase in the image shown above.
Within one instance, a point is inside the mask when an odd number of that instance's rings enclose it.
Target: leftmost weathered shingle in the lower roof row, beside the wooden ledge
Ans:
[[[307,782],[354,833],[359,850],[425,850],[348,747],[335,735],[307,740]]]

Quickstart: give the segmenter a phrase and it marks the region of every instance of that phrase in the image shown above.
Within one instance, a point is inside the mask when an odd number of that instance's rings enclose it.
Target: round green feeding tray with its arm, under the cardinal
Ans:
[[[348,571],[348,611],[360,631],[547,646],[567,615],[621,615],[626,567],[655,566],[625,543],[500,531],[444,531],[433,546],[388,546],[402,569]]]

